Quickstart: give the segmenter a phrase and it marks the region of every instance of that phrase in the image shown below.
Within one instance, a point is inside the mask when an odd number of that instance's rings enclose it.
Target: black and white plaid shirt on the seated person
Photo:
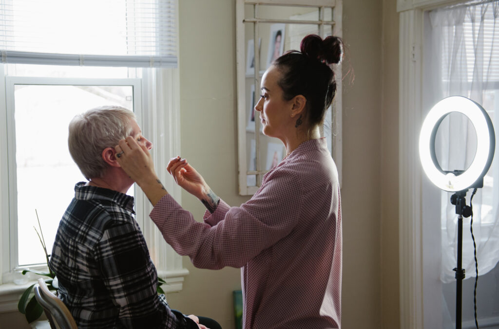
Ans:
[[[85,182],[74,189],[50,268],[78,328],[191,327],[156,292],[156,268],[133,217],[133,197]]]

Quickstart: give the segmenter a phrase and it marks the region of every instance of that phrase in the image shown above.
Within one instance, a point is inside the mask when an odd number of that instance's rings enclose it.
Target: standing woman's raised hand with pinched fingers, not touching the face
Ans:
[[[180,187],[198,199],[202,199],[210,190],[203,177],[186,159],[180,157],[170,159],[166,170],[173,176],[173,179]]]

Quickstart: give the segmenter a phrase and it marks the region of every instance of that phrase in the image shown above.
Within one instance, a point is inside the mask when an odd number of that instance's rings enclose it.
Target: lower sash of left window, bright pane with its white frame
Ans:
[[[138,79],[84,81],[7,76],[5,85],[10,161],[7,199],[11,217],[17,218],[17,225],[10,226],[12,236],[17,236],[17,245],[14,239],[10,241],[10,250],[17,249],[12,253],[12,268],[45,263],[32,229],[37,227],[36,214],[43,223],[45,242],[51,246],[60,220],[57,214],[62,216],[73,196],[69,182],[86,180],[67,149],[69,121],[103,104],[124,106],[134,110],[138,118],[142,109],[133,106],[133,99],[140,99],[134,97],[134,93],[141,93]]]

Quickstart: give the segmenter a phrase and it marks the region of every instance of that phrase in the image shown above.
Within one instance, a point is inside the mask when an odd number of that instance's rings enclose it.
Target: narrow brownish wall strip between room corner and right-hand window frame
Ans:
[[[381,48],[381,328],[400,328],[399,309],[399,14],[383,0]]]

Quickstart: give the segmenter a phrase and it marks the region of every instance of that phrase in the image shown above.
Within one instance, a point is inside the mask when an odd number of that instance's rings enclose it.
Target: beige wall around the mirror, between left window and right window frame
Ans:
[[[398,14],[395,0],[344,0],[342,328],[399,328],[398,308]],[[235,1],[179,0],[182,157],[225,201],[239,205]],[[204,206],[184,193],[201,219]],[[188,258],[173,308],[234,328],[232,291],[239,269],[200,270]],[[0,328],[23,319],[0,314]],[[29,328],[29,327],[27,327]]]

